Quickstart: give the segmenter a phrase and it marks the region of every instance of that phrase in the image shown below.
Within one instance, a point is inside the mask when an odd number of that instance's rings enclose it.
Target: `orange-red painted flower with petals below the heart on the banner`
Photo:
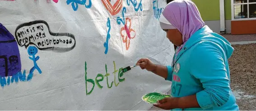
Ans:
[[[131,19],[126,18],[126,24],[124,27],[121,28],[121,37],[123,43],[126,43],[126,50],[130,47],[130,40],[133,39],[136,35],[136,32],[130,28],[131,26]]]

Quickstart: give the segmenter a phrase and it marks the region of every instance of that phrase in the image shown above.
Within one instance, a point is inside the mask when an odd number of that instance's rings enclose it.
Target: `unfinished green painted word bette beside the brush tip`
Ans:
[[[98,87],[100,89],[103,88],[103,86],[99,83],[100,81],[103,81],[104,78],[106,77],[107,78],[107,88],[111,88],[113,83],[115,83],[115,86],[117,86],[119,84],[119,82],[123,82],[125,80],[125,78],[121,79],[120,77],[122,77],[124,75],[122,69],[123,68],[119,68],[119,70],[116,70],[116,64],[115,64],[115,61],[113,62],[114,63],[114,72],[112,72],[112,74],[114,74],[114,81],[111,82],[111,85],[109,86],[108,84],[108,76],[110,75],[109,73],[107,73],[107,64],[105,64],[105,69],[106,69],[106,75],[102,75],[102,74],[98,74],[96,77],[95,77],[95,81],[93,79],[88,79],[87,78],[87,67],[86,67],[86,62],[85,62],[85,87],[86,87],[86,95],[89,95],[93,92],[93,89],[94,89],[94,86],[95,86],[95,83],[98,85]],[[118,72],[118,83],[116,84],[116,72]],[[90,82],[91,84],[93,84],[93,88],[88,92],[87,90],[87,82]]]

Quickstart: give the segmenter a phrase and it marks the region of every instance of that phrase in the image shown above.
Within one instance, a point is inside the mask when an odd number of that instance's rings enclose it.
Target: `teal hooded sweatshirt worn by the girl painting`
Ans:
[[[166,80],[172,81],[173,97],[196,94],[201,108],[173,110],[239,110],[230,88],[228,58],[233,51],[228,40],[208,26],[196,31],[174,54]]]

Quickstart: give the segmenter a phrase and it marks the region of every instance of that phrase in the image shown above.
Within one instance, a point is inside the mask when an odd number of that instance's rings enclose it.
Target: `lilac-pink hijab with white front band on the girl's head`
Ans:
[[[205,26],[196,5],[191,0],[174,0],[167,4],[160,16],[162,29],[176,28],[182,33],[182,40],[186,41],[195,31]],[[176,54],[183,48],[178,47]]]

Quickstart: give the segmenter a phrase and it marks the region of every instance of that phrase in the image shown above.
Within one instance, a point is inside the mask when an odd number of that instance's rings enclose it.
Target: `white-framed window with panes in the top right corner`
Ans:
[[[231,0],[232,20],[256,19],[256,0]]]

